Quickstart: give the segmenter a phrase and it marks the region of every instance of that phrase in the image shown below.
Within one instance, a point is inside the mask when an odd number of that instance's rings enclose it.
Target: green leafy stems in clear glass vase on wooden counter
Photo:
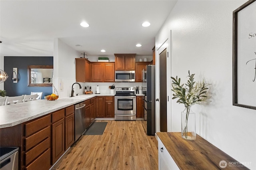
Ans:
[[[194,104],[200,104],[206,101],[209,96],[207,94],[208,86],[210,84],[194,81],[194,75],[190,75],[188,71],[188,81],[185,84],[180,84],[180,78],[172,78],[172,99],[178,99],[177,103],[182,103],[185,106],[184,111],[182,111],[182,131],[181,135],[183,138],[188,140],[196,139],[196,119],[195,113],[191,111],[191,106]],[[188,119],[190,118],[190,119]]]

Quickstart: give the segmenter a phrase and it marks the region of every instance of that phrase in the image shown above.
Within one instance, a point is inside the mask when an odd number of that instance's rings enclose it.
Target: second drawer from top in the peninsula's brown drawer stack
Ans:
[[[40,130],[39,132],[33,134],[32,136],[29,136],[25,139],[25,148],[24,150],[27,151],[42,140],[44,140],[47,137],[51,136],[51,127],[44,128],[43,130]]]

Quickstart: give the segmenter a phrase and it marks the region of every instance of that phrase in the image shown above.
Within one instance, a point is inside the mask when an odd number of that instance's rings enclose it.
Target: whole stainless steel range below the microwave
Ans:
[[[136,95],[134,87],[116,87],[115,120],[136,120]]]

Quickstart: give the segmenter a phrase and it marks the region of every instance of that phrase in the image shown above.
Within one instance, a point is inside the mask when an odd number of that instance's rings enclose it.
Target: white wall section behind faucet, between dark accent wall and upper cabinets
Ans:
[[[75,51],[58,38],[54,39],[53,84],[59,97],[68,97],[71,94],[72,84],[76,82],[76,61],[80,53]],[[82,83],[80,83],[83,85]],[[82,93],[79,85],[74,85],[75,93]]]

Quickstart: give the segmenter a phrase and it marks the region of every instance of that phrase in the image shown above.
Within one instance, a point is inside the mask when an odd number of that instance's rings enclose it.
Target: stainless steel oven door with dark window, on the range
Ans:
[[[115,96],[115,115],[136,115],[136,96]]]

